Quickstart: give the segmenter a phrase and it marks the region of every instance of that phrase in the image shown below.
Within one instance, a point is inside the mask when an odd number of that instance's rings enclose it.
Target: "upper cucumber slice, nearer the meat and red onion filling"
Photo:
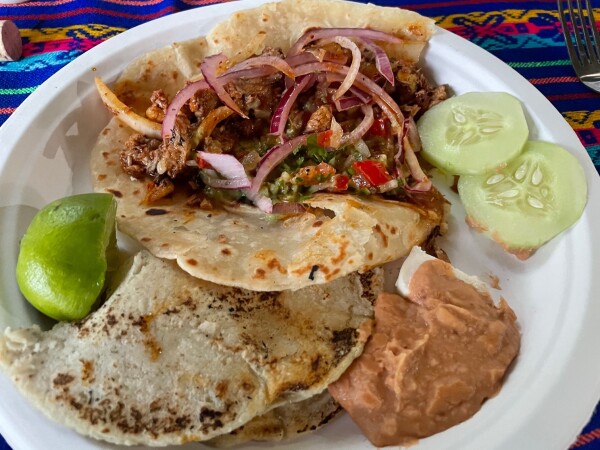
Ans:
[[[529,129],[521,102],[504,92],[469,92],[419,119],[423,157],[453,175],[491,172],[517,156]]]

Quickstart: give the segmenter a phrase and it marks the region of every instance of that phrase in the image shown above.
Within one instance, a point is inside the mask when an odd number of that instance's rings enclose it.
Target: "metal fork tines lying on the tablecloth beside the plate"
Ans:
[[[571,64],[583,84],[600,92],[600,33],[591,1],[567,0],[566,3],[567,10],[563,7],[564,1],[558,0],[558,14]]]

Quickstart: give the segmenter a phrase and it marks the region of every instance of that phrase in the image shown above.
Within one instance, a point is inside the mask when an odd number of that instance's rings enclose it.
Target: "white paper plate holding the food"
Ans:
[[[0,128],[0,327],[42,320],[22,299],[14,279],[18,242],[35,211],[56,198],[91,191],[89,151],[109,120],[95,92],[94,76],[111,82],[134,57],[205,34],[231,12],[260,3],[204,7],[126,31],[51,77]],[[494,56],[439,29],[424,61],[430,75],[455,93],[505,91],[521,99],[531,137],[572,152],[585,169],[590,195],[576,226],[520,262],[469,230],[456,197],[448,194],[453,212],[445,248],[465,272],[484,280],[489,275],[499,278],[500,294],[519,318],[523,345],[498,396],[472,419],[413,448],[567,448],[600,398],[600,241],[593,235],[600,233],[600,180],[561,115]],[[0,398],[0,433],[15,450],[116,448],[54,424],[1,374]],[[186,446],[196,447],[202,446]],[[347,416],[279,447],[371,448]]]

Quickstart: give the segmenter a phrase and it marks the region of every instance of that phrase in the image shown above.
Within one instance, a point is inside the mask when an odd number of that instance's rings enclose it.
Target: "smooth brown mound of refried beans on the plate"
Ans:
[[[409,445],[475,414],[519,351],[516,316],[502,299],[423,263],[410,299],[383,293],[363,354],[329,387],[376,446]]]

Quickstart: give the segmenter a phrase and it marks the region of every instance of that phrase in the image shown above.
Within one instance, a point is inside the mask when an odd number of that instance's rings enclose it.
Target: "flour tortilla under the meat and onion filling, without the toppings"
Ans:
[[[296,0],[266,4],[234,14],[207,36],[144,55],[114,86],[116,94],[142,113],[155,89],[169,98],[197,75],[207,55],[232,61],[265,47],[286,51],[306,29],[365,27],[395,34],[398,58],[415,61],[433,32],[433,21],[398,8],[342,1]],[[113,119],[92,153],[97,191],[117,197],[121,231],[161,258],[175,259],[188,273],[215,283],[270,291],[326,283],[353,271],[398,259],[443,224],[439,204],[386,201],[377,196],[317,194],[303,200],[308,211],[268,221],[244,204],[227,211],[188,206],[185,195],[144,203],[147,180],[132,180],[120,168],[120,149],[133,130]]]

